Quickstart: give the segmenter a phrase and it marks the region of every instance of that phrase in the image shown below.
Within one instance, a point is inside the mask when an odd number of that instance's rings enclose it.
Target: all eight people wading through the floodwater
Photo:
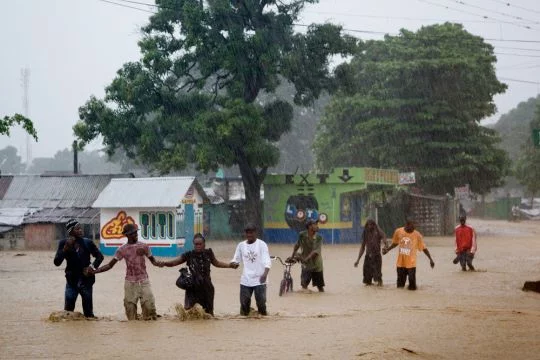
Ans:
[[[127,242],[120,246],[113,258],[105,265],[103,254],[91,240],[83,237],[81,225],[74,219],[66,224],[68,238],[58,244],[54,257],[54,264],[60,266],[66,260],[66,287],[64,310],[73,311],[77,296],[82,299],[84,316],[94,318],[92,288],[95,274],[112,269],[118,261],[126,261],[126,275],[124,282],[124,308],[128,320],[137,319],[137,304],[142,309],[142,319],[155,320],[155,298],[146,271],[146,259],[157,267],[175,267],[186,264],[193,278],[193,286],[185,290],[184,307],[192,308],[200,304],[206,313],[214,315],[214,285],[210,277],[211,266],[218,268],[237,269],[242,264],[240,277],[240,314],[247,316],[251,310],[251,298],[255,295],[257,311],[260,315],[267,315],[266,284],[271,268],[268,245],[257,237],[257,228],[254,224],[244,227],[245,240],[236,246],[233,258],[223,262],[216,258],[212,249],[206,248],[206,239],[202,234],[195,234],[193,250],[179,257],[161,261],[153,255],[150,247],[138,241],[138,228],[135,224],[126,224],[122,234]],[[323,275],[322,243],[323,238],[318,233],[319,224],[316,220],[306,221],[306,230],[298,235],[293,252],[288,261],[299,261],[302,264],[301,286],[303,291],[309,291],[311,284],[319,292],[324,292],[325,282]],[[456,259],[462,270],[474,270],[472,260],[476,251],[476,233],[466,224],[466,217],[460,216],[460,225],[456,226]],[[423,236],[416,230],[412,220],[407,220],[405,226],[395,230],[392,242],[387,243],[386,235],[374,220],[365,223],[361,238],[360,252],[354,263],[357,267],[361,257],[364,256],[363,283],[383,286],[382,255],[398,247],[396,271],[397,287],[405,287],[408,279],[409,290],[416,290],[416,253],[424,252],[433,268],[433,261]],[[91,257],[94,261],[91,263]]]

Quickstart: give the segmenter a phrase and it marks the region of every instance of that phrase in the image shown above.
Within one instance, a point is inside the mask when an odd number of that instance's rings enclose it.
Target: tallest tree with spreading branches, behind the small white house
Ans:
[[[315,2],[156,0],[141,60],[118,71],[103,100],[80,108],[76,135],[83,142],[102,135],[110,151],[123,148],[163,173],[189,163],[203,171],[237,165],[246,216],[260,224],[260,187],[293,111],[259,95],[283,78],[294,84],[296,103],[310,104],[332,87],[329,57],[355,43],[331,24],[294,32]]]

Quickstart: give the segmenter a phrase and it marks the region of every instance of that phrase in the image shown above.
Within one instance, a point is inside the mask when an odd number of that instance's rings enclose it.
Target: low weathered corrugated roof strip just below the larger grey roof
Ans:
[[[99,224],[99,209],[67,208],[43,209],[27,216],[24,224],[53,223],[64,224],[69,219],[76,219],[81,224]]]

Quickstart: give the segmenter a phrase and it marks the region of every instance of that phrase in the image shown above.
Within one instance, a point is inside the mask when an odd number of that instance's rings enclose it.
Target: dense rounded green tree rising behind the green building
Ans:
[[[479,125],[506,89],[495,61],[491,45],[450,23],[361,44],[337,69],[339,94],[315,143],[319,166],[414,171],[436,194],[465,183],[482,194],[499,186],[507,155]]]

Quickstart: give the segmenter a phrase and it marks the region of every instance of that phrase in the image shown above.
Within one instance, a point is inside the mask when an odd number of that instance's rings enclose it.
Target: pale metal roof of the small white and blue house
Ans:
[[[208,200],[192,176],[112,179],[94,202],[96,208],[177,207],[190,186]]]

